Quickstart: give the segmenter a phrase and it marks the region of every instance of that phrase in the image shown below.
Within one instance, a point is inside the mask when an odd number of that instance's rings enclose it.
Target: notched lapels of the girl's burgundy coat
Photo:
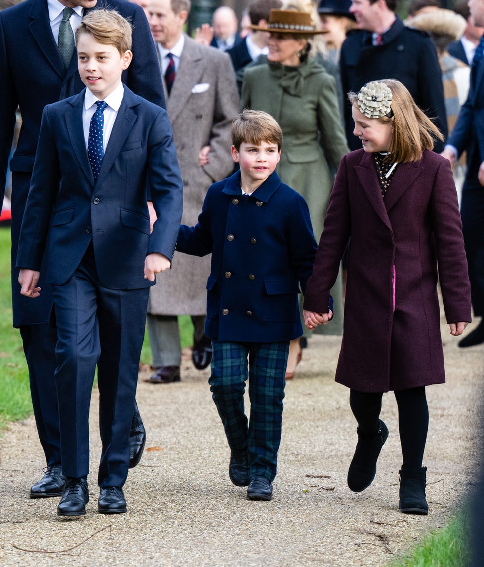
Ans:
[[[399,164],[393,174],[392,183],[383,199],[381,197],[380,183],[376,175],[373,155],[364,150],[357,151],[363,151],[363,155],[360,162],[355,166],[356,176],[368,200],[371,202],[373,209],[375,209],[381,220],[391,229],[388,213],[423,172],[422,164],[421,162]]]

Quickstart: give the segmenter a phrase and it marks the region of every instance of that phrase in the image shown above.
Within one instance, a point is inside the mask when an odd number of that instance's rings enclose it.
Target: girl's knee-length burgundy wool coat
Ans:
[[[350,239],[351,237],[351,239]],[[445,382],[437,295],[448,323],[470,321],[470,286],[450,163],[424,151],[397,166],[382,198],[373,156],[345,155],[304,308],[324,312],[349,241],[336,381],[363,392]]]

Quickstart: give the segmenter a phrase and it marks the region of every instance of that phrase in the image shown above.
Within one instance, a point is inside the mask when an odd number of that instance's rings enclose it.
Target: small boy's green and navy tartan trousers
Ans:
[[[281,442],[289,341],[212,341],[210,391],[233,451],[247,449],[249,476],[272,481]],[[245,415],[249,379],[250,421]]]

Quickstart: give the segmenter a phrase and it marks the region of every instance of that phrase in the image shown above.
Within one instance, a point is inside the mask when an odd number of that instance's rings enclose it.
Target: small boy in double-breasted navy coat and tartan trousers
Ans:
[[[245,110],[231,134],[240,171],[211,185],[197,225],[181,226],[176,249],[212,255],[205,333],[213,345],[210,390],[231,451],[228,473],[236,486],[248,486],[249,500],[271,500],[289,341],[302,335],[299,284],[304,291],[316,241],[304,198],[274,171],[277,122]]]

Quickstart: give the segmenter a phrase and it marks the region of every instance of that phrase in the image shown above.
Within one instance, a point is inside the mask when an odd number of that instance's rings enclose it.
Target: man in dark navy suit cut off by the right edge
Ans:
[[[484,0],[469,0],[475,26],[484,27]],[[474,316],[481,321],[459,346],[484,342],[484,36],[470,69],[469,96],[442,152],[453,163],[467,150],[467,175],[462,187],[461,217]]]

